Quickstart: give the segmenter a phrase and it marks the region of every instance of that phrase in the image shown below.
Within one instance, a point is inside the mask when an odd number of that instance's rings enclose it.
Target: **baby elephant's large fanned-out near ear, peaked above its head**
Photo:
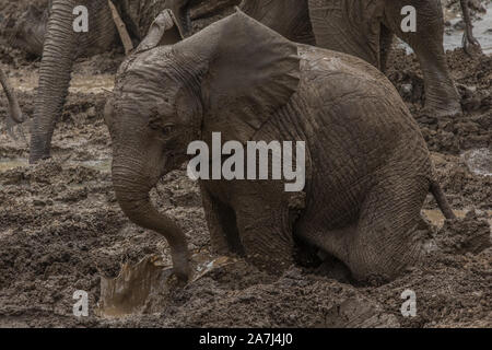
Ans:
[[[297,90],[297,45],[241,11],[174,50],[204,62],[203,126],[223,139],[247,141]]]

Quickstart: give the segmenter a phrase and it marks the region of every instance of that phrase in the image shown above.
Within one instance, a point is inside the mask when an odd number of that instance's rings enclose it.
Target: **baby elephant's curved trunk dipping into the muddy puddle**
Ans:
[[[136,224],[162,234],[168,242],[175,275],[188,280],[189,262],[186,236],[181,229],[166,214],[160,213],[151,203],[149,192],[157,183],[145,175],[145,166],[134,156],[116,155],[113,164],[113,186],[125,214]]]

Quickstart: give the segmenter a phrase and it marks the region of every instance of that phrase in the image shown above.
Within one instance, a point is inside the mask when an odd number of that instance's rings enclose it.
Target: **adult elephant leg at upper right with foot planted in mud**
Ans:
[[[437,116],[461,113],[458,92],[449,74],[443,47],[444,19],[440,0],[386,1],[385,24],[408,43],[419,58],[424,75],[425,107]],[[417,10],[417,32],[401,30],[401,9]]]

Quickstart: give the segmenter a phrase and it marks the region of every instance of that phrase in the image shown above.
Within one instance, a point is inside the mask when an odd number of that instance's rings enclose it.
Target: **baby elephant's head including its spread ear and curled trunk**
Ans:
[[[113,183],[125,213],[163,234],[178,276],[188,273],[184,233],[149,191],[187,159],[188,144],[245,142],[298,85],[297,46],[238,12],[174,45],[130,57],[106,105]]]

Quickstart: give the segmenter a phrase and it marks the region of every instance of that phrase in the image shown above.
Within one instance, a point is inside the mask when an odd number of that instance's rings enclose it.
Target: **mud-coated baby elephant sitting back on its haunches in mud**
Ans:
[[[376,68],[292,43],[242,12],[173,46],[132,55],[105,110],[117,200],[134,223],[164,235],[177,276],[186,237],[149,191],[201,140],[305,142],[305,187],[284,179],[200,179],[213,247],[281,271],[294,236],[342,260],[356,279],[395,277],[421,254],[420,210],[435,180],[419,127]],[[224,152],[225,153],[225,152]]]

